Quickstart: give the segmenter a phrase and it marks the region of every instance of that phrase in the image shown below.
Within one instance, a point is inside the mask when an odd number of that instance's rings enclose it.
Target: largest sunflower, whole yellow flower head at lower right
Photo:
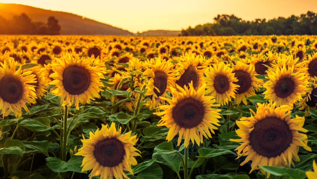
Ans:
[[[290,167],[294,165],[292,159],[300,162],[297,155],[299,146],[312,151],[307,146],[307,135],[299,133],[308,132],[303,128],[305,118],[296,115],[291,119],[292,107],[283,105],[275,108],[275,103],[261,104],[251,117],[242,117],[236,121],[239,129],[236,134],[241,139],[230,139],[243,142],[237,150],[238,158],[247,156],[240,165],[252,160],[251,171],[261,169],[260,165],[275,167]],[[237,159],[238,159],[237,158]],[[261,169],[264,174],[265,171]],[[269,175],[268,175],[269,176]]]

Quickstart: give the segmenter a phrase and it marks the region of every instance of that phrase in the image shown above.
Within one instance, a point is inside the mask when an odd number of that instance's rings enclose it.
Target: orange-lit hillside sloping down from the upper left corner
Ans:
[[[82,18],[68,12],[45,10],[22,4],[0,3],[0,16],[11,19],[25,13],[34,22],[47,23],[49,16],[58,19],[61,35],[133,35],[132,32],[100,23],[92,19]]]

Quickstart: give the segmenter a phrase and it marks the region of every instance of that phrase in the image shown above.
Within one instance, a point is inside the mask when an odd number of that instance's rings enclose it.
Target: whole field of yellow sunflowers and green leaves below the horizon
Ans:
[[[0,36],[1,179],[316,179],[317,36]]]

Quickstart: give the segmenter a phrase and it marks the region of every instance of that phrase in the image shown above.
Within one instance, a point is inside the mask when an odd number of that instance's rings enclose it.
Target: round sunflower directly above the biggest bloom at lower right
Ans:
[[[294,66],[276,68],[275,71],[268,71],[268,81],[263,84],[266,91],[263,92],[265,99],[276,102],[276,106],[289,105],[302,99],[305,94],[308,81],[305,73],[295,71]]]

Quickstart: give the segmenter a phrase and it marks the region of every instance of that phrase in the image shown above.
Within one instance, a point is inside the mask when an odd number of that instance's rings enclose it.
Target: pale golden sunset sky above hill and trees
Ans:
[[[0,0],[48,10],[71,12],[133,33],[156,29],[181,30],[213,23],[218,14],[243,20],[272,19],[317,12],[317,0]]]

